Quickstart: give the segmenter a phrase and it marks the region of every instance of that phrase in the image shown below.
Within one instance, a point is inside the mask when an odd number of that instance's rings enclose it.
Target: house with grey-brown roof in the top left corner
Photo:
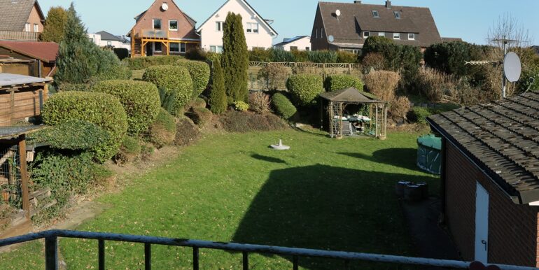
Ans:
[[[36,0],[0,0],[0,40],[38,41],[45,15]]]

